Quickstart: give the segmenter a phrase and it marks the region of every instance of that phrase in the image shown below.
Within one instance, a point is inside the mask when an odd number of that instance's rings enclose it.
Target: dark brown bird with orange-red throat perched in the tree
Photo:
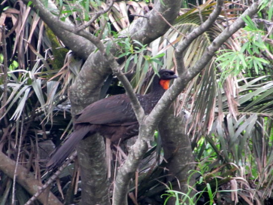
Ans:
[[[137,94],[146,115],[169,88],[170,80],[177,78],[171,70],[161,69],[158,73],[159,76],[154,76],[151,92],[146,95]],[[99,133],[109,138],[112,143],[117,143],[120,139],[123,141],[138,135],[139,128],[130,99],[126,94],[113,95],[88,105],[75,116],[73,124],[74,132],[54,151],[46,164],[48,169],[61,165],[76,144],[87,134]]]

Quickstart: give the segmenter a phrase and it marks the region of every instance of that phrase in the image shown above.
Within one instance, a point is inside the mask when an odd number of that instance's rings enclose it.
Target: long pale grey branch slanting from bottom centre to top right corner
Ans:
[[[217,7],[217,12],[219,13],[219,4]],[[252,16],[258,11],[258,3],[252,4],[242,16]],[[216,13],[216,12],[214,12]],[[139,126],[139,135],[136,140],[136,143],[133,145],[132,150],[130,151],[127,160],[124,165],[120,167],[117,178],[115,181],[115,191],[114,191],[114,205],[126,204],[126,197],[128,193],[128,186],[132,174],[136,171],[136,168],[139,164],[140,159],[143,157],[144,152],[147,150],[146,141],[149,136],[153,135],[153,132],[159,123],[164,111],[170,106],[170,104],[174,101],[174,99],[179,95],[179,93],[186,87],[188,82],[195,77],[211,60],[214,52],[237,30],[239,30],[243,25],[244,21],[242,20],[242,16],[238,18],[229,28],[226,28],[207,48],[205,54],[201,57],[201,59],[194,65],[192,68],[189,68],[187,71],[185,70],[182,74],[180,74],[179,78],[177,78],[172,87],[168,89],[159,102],[156,104],[152,112],[144,119],[144,122]],[[214,18],[215,20],[216,18]],[[210,21],[211,18],[208,20]],[[204,22],[207,26],[208,23]],[[194,32],[202,34],[204,29],[204,25],[199,26]],[[194,37],[193,32],[189,34]],[[191,42],[194,40],[192,37]],[[189,40],[187,40],[189,41]],[[190,43],[181,44],[184,46],[188,46]],[[177,48],[178,51],[181,51],[182,46]],[[185,48],[186,48],[185,47]],[[118,196],[118,199],[117,197]]]

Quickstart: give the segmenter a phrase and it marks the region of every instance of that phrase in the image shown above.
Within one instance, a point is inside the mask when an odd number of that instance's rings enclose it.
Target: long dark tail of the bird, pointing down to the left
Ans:
[[[47,169],[54,169],[62,165],[77,143],[92,130],[91,127],[92,125],[78,125],[77,129],[65,140],[64,144],[57,147],[50,155],[46,164]]]

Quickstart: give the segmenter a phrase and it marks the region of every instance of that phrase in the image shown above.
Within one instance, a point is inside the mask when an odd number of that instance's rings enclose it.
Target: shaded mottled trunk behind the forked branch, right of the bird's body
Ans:
[[[164,157],[167,160],[168,182],[172,182],[172,189],[187,193],[193,187],[195,179],[191,178],[187,184],[189,171],[195,169],[194,156],[190,138],[185,134],[185,124],[181,117],[175,117],[173,112],[168,112],[158,126]],[[178,184],[179,183],[179,184]],[[194,195],[194,192],[191,193]],[[173,205],[174,198],[168,205]]]

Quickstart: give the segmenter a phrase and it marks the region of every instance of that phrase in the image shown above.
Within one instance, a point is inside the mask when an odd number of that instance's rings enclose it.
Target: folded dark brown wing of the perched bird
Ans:
[[[131,125],[136,122],[136,116],[132,109],[129,98],[124,95],[96,101],[84,108],[75,117],[75,124],[90,123],[95,125]]]

